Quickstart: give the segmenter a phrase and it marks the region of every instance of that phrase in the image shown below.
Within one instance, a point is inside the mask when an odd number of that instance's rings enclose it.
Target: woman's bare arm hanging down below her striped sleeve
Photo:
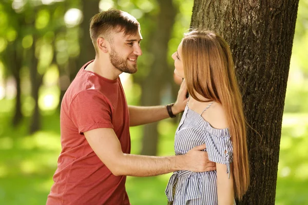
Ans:
[[[230,165],[232,167],[232,165]],[[216,163],[217,169],[217,196],[218,205],[233,205],[234,201],[234,187],[233,187],[233,173],[232,168],[229,174],[226,173],[226,165]]]

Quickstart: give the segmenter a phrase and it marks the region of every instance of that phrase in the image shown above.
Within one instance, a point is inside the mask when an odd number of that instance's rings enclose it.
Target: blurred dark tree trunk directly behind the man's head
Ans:
[[[83,22],[80,27],[80,54],[77,59],[76,67],[72,66],[70,69],[70,81],[74,79],[79,69],[87,63],[89,60],[94,59],[95,50],[90,37],[90,19],[95,14],[99,13],[99,0],[83,0],[82,12]]]

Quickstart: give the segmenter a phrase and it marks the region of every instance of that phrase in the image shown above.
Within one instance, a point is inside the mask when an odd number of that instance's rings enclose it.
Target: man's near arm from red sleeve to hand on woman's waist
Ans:
[[[195,147],[185,155],[143,156],[124,154],[117,135],[111,128],[99,128],[84,132],[98,157],[115,176],[155,176],[178,170],[204,172],[215,170],[215,163],[208,161],[205,145]]]

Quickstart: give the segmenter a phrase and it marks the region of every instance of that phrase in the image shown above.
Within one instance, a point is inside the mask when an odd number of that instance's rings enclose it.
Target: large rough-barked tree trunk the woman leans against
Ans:
[[[229,43],[248,124],[251,186],[238,204],[275,204],[281,122],[298,0],[195,0],[192,27]]]

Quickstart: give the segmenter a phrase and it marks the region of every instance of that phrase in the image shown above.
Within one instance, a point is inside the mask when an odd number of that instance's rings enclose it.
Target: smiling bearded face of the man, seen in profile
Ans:
[[[142,55],[140,30],[134,35],[124,36],[124,32],[114,32],[110,42],[109,58],[111,64],[125,73],[136,73],[138,56]]]

